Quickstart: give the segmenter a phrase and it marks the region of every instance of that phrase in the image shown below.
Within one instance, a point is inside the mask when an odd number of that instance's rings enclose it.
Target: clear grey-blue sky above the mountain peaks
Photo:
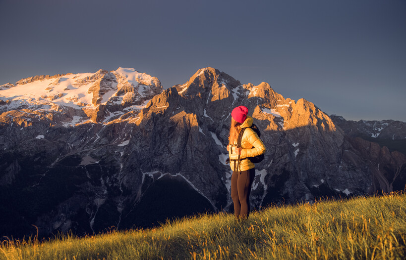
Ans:
[[[0,0],[0,85],[214,67],[348,120],[406,121],[406,0]]]

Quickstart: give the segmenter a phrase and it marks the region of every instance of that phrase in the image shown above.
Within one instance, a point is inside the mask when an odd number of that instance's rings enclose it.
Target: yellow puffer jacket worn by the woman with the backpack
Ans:
[[[247,128],[241,138],[241,155],[240,155],[240,160],[246,157],[254,157],[254,156],[258,156],[261,155],[263,153],[265,153],[265,145],[264,143],[261,141],[261,139],[259,139],[258,135],[256,134],[256,132],[254,130],[252,130],[251,127],[252,126],[252,122],[254,120],[252,119],[252,117],[247,116],[247,118],[245,119],[244,123],[241,124],[241,128]],[[237,144],[237,140],[235,140],[235,142],[233,143],[234,145],[230,145],[230,149],[229,149],[229,156],[230,156],[230,167],[231,170],[234,171],[234,164],[237,163],[237,161],[232,161],[232,160],[236,160],[238,159],[238,154],[235,152],[235,149],[237,148],[236,144]],[[246,159],[246,160],[242,160],[239,163],[239,168],[237,169],[237,172],[242,172],[242,171],[246,171],[249,169],[254,168],[255,165],[253,163],[251,163],[250,160]]]

